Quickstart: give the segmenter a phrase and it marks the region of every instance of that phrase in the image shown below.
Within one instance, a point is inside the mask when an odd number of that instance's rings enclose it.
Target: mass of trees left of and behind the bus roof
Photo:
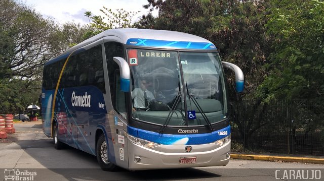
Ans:
[[[57,25],[14,0],[0,1],[0,113],[17,112],[36,103],[41,93],[43,65],[68,48],[114,26],[131,27],[136,12],[104,8],[108,18],[93,16],[90,25]],[[138,12],[137,12],[138,13]]]

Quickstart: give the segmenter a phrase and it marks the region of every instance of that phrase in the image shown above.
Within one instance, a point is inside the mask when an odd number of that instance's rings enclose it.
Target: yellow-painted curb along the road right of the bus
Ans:
[[[244,160],[287,161],[287,162],[324,164],[324,158],[270,156],[270,155],[246,155],[246,154],[231,154],[231,158],[244,159]]]

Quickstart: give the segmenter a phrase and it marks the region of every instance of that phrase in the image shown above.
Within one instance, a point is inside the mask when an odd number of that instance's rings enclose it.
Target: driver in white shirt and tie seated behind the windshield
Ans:
[[[134,99],[133,110],[147,110],[149,102],[154,99],[151,91],[147,90],[148,86],[152,85],[147,79],[141,80],[141,88],[135,88],[132,91],[132,99]]]

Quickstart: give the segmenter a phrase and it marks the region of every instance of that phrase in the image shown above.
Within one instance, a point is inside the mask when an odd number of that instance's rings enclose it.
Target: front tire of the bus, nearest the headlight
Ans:
[[[96,148],[97,160],[101,169],[105,171],[113,171],[116,166],[109,161],[108,153],[109,153],[108,145],[105,136],[102,134],[100,135],[97,141],[97,148]]]

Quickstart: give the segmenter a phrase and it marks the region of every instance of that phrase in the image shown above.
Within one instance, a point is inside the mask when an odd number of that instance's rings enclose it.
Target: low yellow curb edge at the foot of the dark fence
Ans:
[[[324,156],[292,155],[292,154],[258,154],[258,153],[231,153],[233,159],[287,161],[300,163],[324,164]]]

